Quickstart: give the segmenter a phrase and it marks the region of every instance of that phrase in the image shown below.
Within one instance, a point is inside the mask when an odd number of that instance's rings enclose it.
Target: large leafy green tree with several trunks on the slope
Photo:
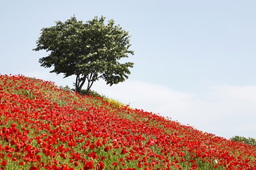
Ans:
[[[94,17],[86,23],[77,21],[73,16],[62,23],[55,21],[56,26],[41,29],[41,37],[36,41],[33,51],[50,51],[47,57],[39,59],[41,66],[54,69],[50,73],[64,74],[64,78],[76,75],[76,92],[87,80],[87,95],[93,82],[104,79],[107,85],[117,84],[128,79],[133,62],[120,63],[128,54],[131,46],[128,31],[114,20],[104,24],[105,17]]]

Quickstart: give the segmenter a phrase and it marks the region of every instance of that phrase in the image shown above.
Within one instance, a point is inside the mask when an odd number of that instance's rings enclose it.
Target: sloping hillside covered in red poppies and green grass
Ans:
[[[256,148],[53,82],[0,75],[0,168],[256,170]]]

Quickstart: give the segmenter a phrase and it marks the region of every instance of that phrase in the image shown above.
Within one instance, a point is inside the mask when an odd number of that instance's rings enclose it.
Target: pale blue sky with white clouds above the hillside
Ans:
[[[32,51],[41,29],[75,14],[129,31],[129,79],[92,90],[132,108],[229,139],[256,138],[255,0],[12,0],[0,1],[0,74],[23,74],[73,86],[40,67]]]

